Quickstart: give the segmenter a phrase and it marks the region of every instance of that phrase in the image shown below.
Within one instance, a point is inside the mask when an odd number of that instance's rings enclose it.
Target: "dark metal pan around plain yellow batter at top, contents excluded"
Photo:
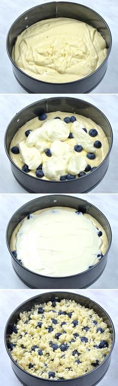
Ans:
[[[26,75],[11,59],[11,52],[17,36],[32,24],[50,18],[70,18],[80,20],[97,29],[106,42],[107,56],[97,70],[90,75],[68,83],[43,82]],[[107,69],[111,50],[111,33],[106,22],[96,12],[76,3],[46,3],[24,12],[10,27],[6,38],[6,49],[12,64],[12,70],[20,86],[32,93],[86,93],[94,89],[102,80]]]

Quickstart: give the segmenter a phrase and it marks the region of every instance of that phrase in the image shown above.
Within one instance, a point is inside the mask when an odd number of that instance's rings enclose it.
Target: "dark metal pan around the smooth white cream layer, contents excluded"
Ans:
[[[100,261],[93,267],[89,268],[87,271],[84,271],[80,274],[66,277],[49,277],[36,274],[29,271],[27,268],[23,267],[18,263],[18,260],[14,258],[10,250],[10,238],[12,232],[16,225],[28,214],[35,212],[36,210],[50,207],[69,207],[81,211],[82,213],[88,213],[93,216],[103,227],[106,232],[108,239],[108,248],[104,256]],[[6,229],[6,243],[8,250],[11,254],[11,263],[14,268],[15,273],[19,279],[30,288],[38,289],[55,289],[55,288],[87,288],[93,284],[102,274],[106,262],[107,262],[107,253],[111,245],[111,229],[110,225],[99,209],[94,205],[88,203],[85,200],[80,198],[66,196],[66,195],[48,195],[38,197],[34,200],[31,200],[21,206],[11,217]]]

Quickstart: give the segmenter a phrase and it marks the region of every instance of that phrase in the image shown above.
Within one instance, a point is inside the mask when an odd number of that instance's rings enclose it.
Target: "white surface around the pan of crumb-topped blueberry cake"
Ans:
[[[54,291],[54,290],[53,290]],[[112,351],[111,355],[111,363],[108,368],[107,373],[105,374],[104,378],[98,383],[99,386],[116,386],[117,384],[117,376],[118,376],[118,370],[117,370],[117,357],[118,357],[118,350],[117,350],[117,338],[118,338],[118,323],[117,323],[117,309],[118,309],[118,301],[117,301],[117,291],[89,291],[89,290],[65,290],[70,292],[75,292],[80,295],[84,295],[98,303],[101,307],[104,308],[104,310],[109,314],[115,328],[115,334],[116,334],[116,340],[115,345]],[[10,316],[11,312],[19,306],[22,302],[25,300],[31,298],[32,296],[35,296],[37,294],[40,294],[42,292],[47,292],[46,290],[22,290],[22,291],[1,291],[1,317],[0,317],[0,334],[1,334],[1,373],[0,373],[0,381],[1,386],[20,386],[20,382],[16,378],[15,374],[13,373],[10,365],[10,359],[8,357],[8,354],[5,350],[4,342],[3,342],[3,332],[5,328],[5,324],[7,322],[8,317]]]

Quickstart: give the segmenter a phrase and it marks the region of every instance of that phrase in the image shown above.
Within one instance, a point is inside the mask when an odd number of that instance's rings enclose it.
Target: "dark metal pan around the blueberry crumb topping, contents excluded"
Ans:
[[[16,364],[16,362],[11,357],[11,354],[7,347],[8,337],[11,332],[11,328],[13,324],[17,322],[17,319],[19,318],[19,313],[23,311],[29,311],[34,306],[34,304],[41,304],[44,302],[48,302],[53,298],[72,299],[75,302],[80,303],[82,306],[88,309],[93,309],[98,314],[99,317],[103,318],[104,322],[107,324],[110,330],[112,345],[111,345],[109,354],[106,356],[104,361],[100,365],[95,367],[92,371],[76,378],[52,381],[50,379],[42,379],[32,374],[29,374],[28,372],[24,371],[21,367],[19,367],[18,364]],[[115,340],[115,331],[114,331],[113,323],[109,315],[102,307],[100,307],[97,303],[93,302],[91,299],[85,296],[74,294],[71,292],[60,292],[60,291],[40,294],[20,304],[10,315],[4,331],[5,348],[10,357],[12,369],[14,370],[15,375],[18,377],[18,379],[21,381],[21,383],[24,386],[47,386],[47,384],[51,384],[51,383],[54,385],[60,384],[61,386],[68,386],[68,385],[69,386],[95,386],[103,378],[103,376],[105,375],[108,369],[108,366],[110,364],[110,359],[111,359],[111,352],[114,346],[114,340]]]

